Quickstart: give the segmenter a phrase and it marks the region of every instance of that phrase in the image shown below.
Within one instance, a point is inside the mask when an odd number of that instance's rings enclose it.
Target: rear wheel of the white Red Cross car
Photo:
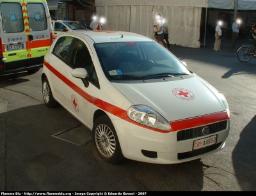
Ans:
[[[52,96],[51,87],[46,77],[43,80],[42,93],[43,93],[44,103],[47,107],[53,108],[58,105],[58,102],[56,102],[56,100],[54,100]]]

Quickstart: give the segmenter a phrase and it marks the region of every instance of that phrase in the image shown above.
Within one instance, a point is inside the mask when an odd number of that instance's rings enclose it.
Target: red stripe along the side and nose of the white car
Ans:
[[[112,105],[111,103],[104,102],[103,100],[100,100],[99,98],[93,99],[92,96],[86,92],[83,91],[80,87],[76,86],[73,82],[67,79],[67,77],[64,77],[60,72],[58,72],[56,69],[54,69],[51,64],[47,63],[47,61],[44,60],[44,65],[52,72],[56,77],[58,77],[60,80],[65,82],[70,88],[72,88],[76,93],[80,94],[84,99],[86,99],[88,102],[92,103],[93,105],[96,105],[102,110],[105,110],[106,112],[109,112],[117,117],[120,117],[121,119],[124,119],[125,121],[128,121],[129,123],[136,124],[137,126],[141,126],[143,128],[147,128],[149,130],[153,130],[155,132],[160,133],[170,133],[175,132],[179,130],[184,130],[188,128],[193,128],[196,126],[202,126],[204,124],[211,124],[218,121],[223,121],[225,119],[230,119],[230,117],[227,116],[227,112],[218,112],[214,114],[208,114],[205,116],[198,116],[191,119],[182,119],[180,121],[173,121],[170,122],[170,125],[172,127],[169,131],[163,131],[163,130],[157,130],[155,128],[150,128],[148,126],[145,126],[140,123],[136,123],[135,121],[132,121],[128,116],[127,112],[124,109],[120,109],[119,107],[116,107],[115,105]]]

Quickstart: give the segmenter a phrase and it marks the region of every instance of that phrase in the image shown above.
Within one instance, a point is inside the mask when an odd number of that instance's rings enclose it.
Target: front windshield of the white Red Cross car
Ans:
[[[111,80],[179,77],[192,72],[155,41],[95,43],[102,70]]]

